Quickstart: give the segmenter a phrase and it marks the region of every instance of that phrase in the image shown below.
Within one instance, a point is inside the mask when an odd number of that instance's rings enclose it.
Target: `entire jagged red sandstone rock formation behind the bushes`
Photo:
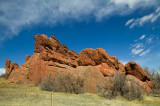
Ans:
[[[138,64],[129,62],[124,66],[117,57],[109,56],[104,49],[89,48],[77,54],[74,50],[69,51],[67,46],[62,45],[54,36],[48,38],[38,34],[34,38],[34,54],[32,57],[27,55],[24,64],[19,67],[6,60],[6,74],[11,82],[36,83],[47,74],[51,74],[55,79],[57,72],[69,71],[84,77],[86,91],[96,92],[97,83],[102,83],[113,77],[115,71],[120,71],[129,78],[133,76],[137,81],[143,82],[141,86],[145,84],[149,90],[152,86],[150,78]]]

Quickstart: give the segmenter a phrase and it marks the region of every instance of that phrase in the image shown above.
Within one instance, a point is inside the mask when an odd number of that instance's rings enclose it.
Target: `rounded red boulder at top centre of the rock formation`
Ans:
[[[118,68],[118,59],[111,57],[108,53],[101,48],[98,49],[84,49],[78,54],[78,65],[79,66],[96,66],[101,63],[107,63],[108,66],[115,69]]]

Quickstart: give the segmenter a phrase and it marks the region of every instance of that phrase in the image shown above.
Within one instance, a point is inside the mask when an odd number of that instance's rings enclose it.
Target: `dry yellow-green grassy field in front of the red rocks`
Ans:
[[[67,94],[41,91],[34,85],[13,84],[0,79],[0,106],[160,106],[160,97],[127,101],[121,97],[108,100],[97,94]]]

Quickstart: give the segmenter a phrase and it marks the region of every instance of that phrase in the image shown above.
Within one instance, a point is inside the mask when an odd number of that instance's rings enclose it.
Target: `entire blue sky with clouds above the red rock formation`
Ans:
[[[77,53],[103,48],[124,64],[160,66],[159,0],[0,0],[0,73],[6,59],[33,54],[38,33]]]

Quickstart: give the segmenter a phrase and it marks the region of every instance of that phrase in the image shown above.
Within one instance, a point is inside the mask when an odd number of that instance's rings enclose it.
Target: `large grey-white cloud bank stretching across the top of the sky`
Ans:
[[[40,23],[54,26],[68,20],[87,21],[88,16],[101,21],[114,15],[128,15],[138,8],[158,7],[159,4],[159,0],[1,0],[0,40]]]

